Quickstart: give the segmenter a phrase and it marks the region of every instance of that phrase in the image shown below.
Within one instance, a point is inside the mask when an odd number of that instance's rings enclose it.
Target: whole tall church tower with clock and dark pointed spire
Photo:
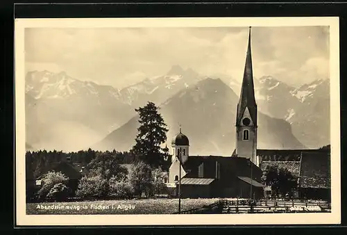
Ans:
[[[236,115],[236,156],[251,159],[256,164],[257,151],[257,104],[254,95],[251,27],[249,27],[248,48],[244,79],[242,81]]]

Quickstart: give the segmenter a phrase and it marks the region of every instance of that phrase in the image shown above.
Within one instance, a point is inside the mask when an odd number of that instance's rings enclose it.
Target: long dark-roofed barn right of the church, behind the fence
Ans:
[[[284,168],[298,179],[294,197],[330,199],[330,148],[257,149],[260,168]]]

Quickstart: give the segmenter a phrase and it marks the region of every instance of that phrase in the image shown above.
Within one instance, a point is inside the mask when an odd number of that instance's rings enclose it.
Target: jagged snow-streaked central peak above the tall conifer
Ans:
[[[194,70],[190,68],[184,70],[179,65],[174,65],[164,76],[144,79],[133,86],[121,89],[119,94],[124,103],[136,108],[143,106],[147,101],[160,104],[176,92],[189,88],[201,79],[203,77]]]

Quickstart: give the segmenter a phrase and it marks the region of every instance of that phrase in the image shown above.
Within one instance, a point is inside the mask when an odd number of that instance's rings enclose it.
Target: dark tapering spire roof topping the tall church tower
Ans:
[[[251,53],[251,27],[249,27],[248,33],[248,47],[246,54],[246,64],[244,67],[244,78],[242,81],[241,94],[239,96],[239,104],[237,104],[237,117],[236,125],[239,125],[244,115],[244,112],[248,108],[251,115],[251,119],[255,127],[257,126],[257,104],[255,102],[254,95],[254,83],[253,83],[253,67],[252,67],[252,53]]]

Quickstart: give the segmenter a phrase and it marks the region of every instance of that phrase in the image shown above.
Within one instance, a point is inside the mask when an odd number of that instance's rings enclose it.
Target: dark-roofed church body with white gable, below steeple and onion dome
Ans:
[[[179,184],[178,157],[169,169],[169,182]],[[250,159],[231,156],[188,156],[181,166],[181,196],[262,197],[262,170]],[[252,188],[252,190],[251,190]],[[177,188],[178,190],[178,188]],[[177,192],[176,192],[177,193]]]

